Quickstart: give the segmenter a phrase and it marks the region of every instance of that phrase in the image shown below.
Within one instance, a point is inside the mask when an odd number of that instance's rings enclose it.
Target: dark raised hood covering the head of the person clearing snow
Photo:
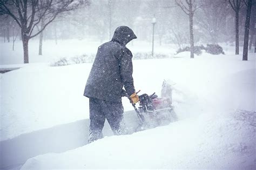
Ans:
[[[128,26],[118,26],[114,31],[112,40],[120,43],[121,45],[126,45],[132,39],[136,39],[136,35]]]

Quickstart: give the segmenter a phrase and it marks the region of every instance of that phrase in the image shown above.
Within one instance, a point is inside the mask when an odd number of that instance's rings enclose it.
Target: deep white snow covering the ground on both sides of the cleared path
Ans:
[[[38,56],[32,42],[33,64],[0,74],[1,141],[89,118],[83,90],[92,64],[51,67],[50,63],[95,53],[100,43],[60,41],[54,50],[52,43],[45,43],[44,55]],[[15,52],[6,44],[0,46],[1,64],[22,63],[20,46]],[[134,41],[130,49],[150,52],[150,44]],[[224,47],[226,55],[203,52],[190,59],[188,52],[174,55],[170,46],[156,46],[156,52],[172,57],[133,60],[134,85],[141,93],[160,94],[164,79],[174,81],[178,122],[105,137],[65,153],[39,155],[23,168],[255,168],[256,55],[249,53],[245,62],[241,55],[233,55],[233,49]],[[129,100],[123,99],[123,104],[125,111],[133,109]]]

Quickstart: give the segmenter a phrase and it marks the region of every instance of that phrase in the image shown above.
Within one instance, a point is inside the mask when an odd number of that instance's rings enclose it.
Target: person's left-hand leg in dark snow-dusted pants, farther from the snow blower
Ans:
[[[105,123],[105,115],[100,108],[100,99],[90,98],[90,128],[88,143],[103,138],[102,129]]]

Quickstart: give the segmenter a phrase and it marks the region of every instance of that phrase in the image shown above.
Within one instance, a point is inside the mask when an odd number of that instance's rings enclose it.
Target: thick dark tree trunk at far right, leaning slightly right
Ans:
[[[248,0],[246,19],[245,19],[245,38],[244,38],[244,50],[242,51],[242,60],[248,60],[247,56],[248,56],[251,11],[252,11],[252,0]]]

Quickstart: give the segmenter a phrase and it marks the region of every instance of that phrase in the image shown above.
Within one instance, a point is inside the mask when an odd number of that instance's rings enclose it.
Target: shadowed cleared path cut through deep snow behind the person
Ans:
[[[129,132],[134,132],[134,127],[138,126],[136,113],[130,111],[125,112],[124,115],[125,123],[127,127],[130,127]],[[88,141],[89,125],[90,120],[83,119],[1,141],[0,168],[9,169],[23,165],[26,160],[36,155],[59,153],[84,146]],[[107,121],[103,133],[104,136],[113,135]]]

